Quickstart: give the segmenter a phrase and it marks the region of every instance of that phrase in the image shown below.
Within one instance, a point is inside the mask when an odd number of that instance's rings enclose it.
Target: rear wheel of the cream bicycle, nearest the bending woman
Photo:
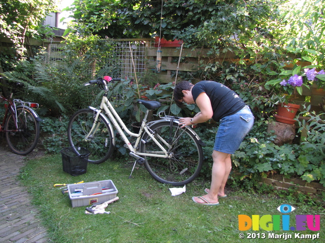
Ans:
[[[199,140],[178,123],[162,121],[149,127],[158,139],[159,135],[167,141],[170,149],[164,145],[170,158],[144,156],[144,165],[150,175],[157,181],[173,186],[182,186],[193,181],[200,173],[203,165],[203,149]],[[140,152],[155,153],[161,149],[145,133],[140,145]],[[158,139],[159,140],[159,139]]]

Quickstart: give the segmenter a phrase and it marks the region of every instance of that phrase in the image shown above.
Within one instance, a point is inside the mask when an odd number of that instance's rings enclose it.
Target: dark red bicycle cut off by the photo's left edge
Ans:
[[[41,118],[33,109],[38,108],[39,104],[12,100],[11,97],[7,99],[3,95],[0,95],[0,101],[5,103],[5,115],[0,124],[0,132],[6,134],[7,143],[14,153],[20,155],[30,153],[40,138]]]

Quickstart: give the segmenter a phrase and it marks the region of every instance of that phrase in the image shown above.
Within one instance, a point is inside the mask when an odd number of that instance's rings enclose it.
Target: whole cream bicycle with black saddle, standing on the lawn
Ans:
[[[129,155],[136,158],[134,166],[144,163],[151,176],[162,183],[179,186],[194,180],[203,164],[204,143],[199,136],[190,127],[181,128],[178,117],[167,116],[165,112],[158,114],[158,120],[147,122],[149,111],[161,105],[158,101],[147,100],[137,101],[147,111],[139,133],[131,132],[107,98],[109,84],[120,79],[113,78],[111,82],[105,79],[90,80],[86,84],[98,85],[105,91],[100,107],[78,110],[70,119],[68,139],[76,148],[75,152],[78,153],[78,147],[85,147],[90,151],[89,163],[103,163],[113,153],[114,127]],[[135,137],[136,141],[131,143],[126,135]]]

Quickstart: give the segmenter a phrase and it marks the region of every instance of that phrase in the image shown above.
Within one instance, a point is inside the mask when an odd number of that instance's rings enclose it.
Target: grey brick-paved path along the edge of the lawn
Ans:
[[[17,178],[24,165],[24,156],[12,153],[0,143],[0,242],[53,242],[37,217],[37,208],[30,203],[30,195]]]

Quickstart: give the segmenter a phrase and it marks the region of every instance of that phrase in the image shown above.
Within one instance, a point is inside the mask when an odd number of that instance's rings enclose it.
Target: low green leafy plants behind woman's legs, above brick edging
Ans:
[[[240,173],[239,179],[266,178],[270,173],[276,173],[286,178],[299,176],[307,182],[317,180],[325,185],[323,144],[304,142],[275,145],[272,142],[274,137],[266,133],[263,123],[265,121],[255,123],[253,130],[233,156],[233,169]],[[311,132],[311,136],[321,142],[323,138],[319,129],[323,128],[317,127]]]

